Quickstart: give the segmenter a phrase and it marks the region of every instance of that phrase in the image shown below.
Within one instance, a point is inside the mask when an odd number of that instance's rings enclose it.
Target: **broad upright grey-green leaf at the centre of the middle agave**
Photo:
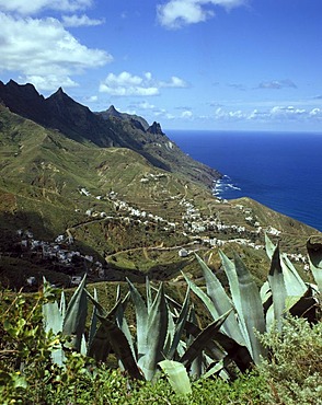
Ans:
[[[148,314],[147,352],[139,358],[138,364],[146,379],[151,381],[157,371],[158,362],[163,358],[163,347],[168,334],[168,305],[164,297],[163,285],[160,285],[158,294]]]

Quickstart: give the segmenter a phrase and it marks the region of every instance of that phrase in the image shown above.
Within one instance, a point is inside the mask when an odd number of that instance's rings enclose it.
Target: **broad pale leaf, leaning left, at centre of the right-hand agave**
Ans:
[[[256,331],[264,333],[266,328],[257,286],[238,255],[234,255],[234,264],[222,252],[220,252],[220,256],[229,280],[241,331],[249,351],[257,364],[261,361],[261,356],[265,357],[266,355],[266,350],[256,335]]]

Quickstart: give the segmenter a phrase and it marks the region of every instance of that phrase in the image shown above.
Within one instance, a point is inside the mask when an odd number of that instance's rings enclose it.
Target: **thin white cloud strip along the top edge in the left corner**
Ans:
[[[0,11],[32,15],[48,9],[74,12],[92,4],[93,0],[0,0]]]

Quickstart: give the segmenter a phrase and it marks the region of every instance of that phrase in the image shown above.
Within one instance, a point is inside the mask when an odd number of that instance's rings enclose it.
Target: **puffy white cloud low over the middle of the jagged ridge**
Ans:
[[[182,89],[184,86],[186,86],[186,83],[174,76],[170,81],[158,81],[152,78],[151,72],[146,72],[142,77],[139,77],[123,71],[118,76],[108,73],[106,79],[100,84],[100,92],[118,96],[149,96],[160,94],[161,88]]]

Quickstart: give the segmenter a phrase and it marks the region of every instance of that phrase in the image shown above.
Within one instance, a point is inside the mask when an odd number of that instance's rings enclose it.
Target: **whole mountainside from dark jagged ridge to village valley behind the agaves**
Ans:
[[[129,277],[198,279],[198,252],[220,274],[218,248],[238,251],[263,279],[264,234],[280,238],[300,271],[319,232],[249,198],[212,196],[215,169],[196,162],[160,124],[91,112],[62,89],[0,81],[0,281],[36,288]]]

